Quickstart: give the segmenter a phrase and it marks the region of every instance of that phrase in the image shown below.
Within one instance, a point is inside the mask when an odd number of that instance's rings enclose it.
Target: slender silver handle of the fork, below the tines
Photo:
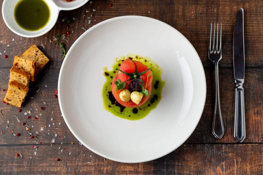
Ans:
[[[212,133],[215,138],[222,138],[224,135],[224,124],[220,107],[220,95],[219,95],[219,76],[218,76],[218,62],[214,61],[214,74],[215,74],[215,103],[214,114],[212,123]]]

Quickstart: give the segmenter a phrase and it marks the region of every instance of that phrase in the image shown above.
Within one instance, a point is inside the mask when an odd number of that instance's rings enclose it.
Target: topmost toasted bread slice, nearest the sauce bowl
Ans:
[[[37,45],[30,46],[22,56],[28,57],[28,59],[37,61],[37,69],[40,72],[43,67],[49,62],[49,58],[38,48]]]

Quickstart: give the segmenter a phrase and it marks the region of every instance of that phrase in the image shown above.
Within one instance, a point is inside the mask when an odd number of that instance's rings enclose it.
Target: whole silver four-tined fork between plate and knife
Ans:
[[[222,59],[221,31],[222,31],[222,24],[220,23],[220,34],[219,34],[220,36],[218,38],[218,23],[217,23],[217,31],[215,38],[215,23],[214,23],[214,27],[211,23],[208,58],[214,64],[214,74],[215,74],[215,102],[214,102],[212,133],[215,136],[215,138],[218,139],[222,138],[224,134],[224,124],[223,124],[221,107],[220,107],[219,77],[218,77],[218,63]],[[212,38],[212,34],[213,34],[213,38]]]

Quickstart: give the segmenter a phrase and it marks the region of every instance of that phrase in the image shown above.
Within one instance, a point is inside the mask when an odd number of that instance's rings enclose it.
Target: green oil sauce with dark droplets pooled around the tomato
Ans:
[[[133,60],[138,60],[143,64],[147,65],[148,67],[152,67],[151,70],[153,74],[153,79],[150,97],[146,103],[136,108],[124,106],[120,107],[115,104],[112,104],[112,101],[109,99],[109,95],[111,95],[112,79],[118,72],[122,61],[127,57],[131,57]],[[160,102],[162,97],[162,88],[164,87],[165,82],[161,79],[162,69],[150,57],[133,54],[128,54],[127,56],[122,57],[116,57],[115,62],[112,66],[112,70],[108,70],[107,67],[104,67],[103,70],[104,76],[106,78],[106,82],[104,83],[102,89],[104,107],[106,110],[110,111],[114,115],[129,120],[138,120],[150,113],[150,111],[156,108],[156,106]]]

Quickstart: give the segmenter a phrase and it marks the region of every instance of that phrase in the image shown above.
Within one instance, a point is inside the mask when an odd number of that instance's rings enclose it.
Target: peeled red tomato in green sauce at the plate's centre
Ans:
[[[134,73],[135,71],[135,64],[136,64],[136,67],[137,67],[137,72],[140,73],[140,72],[143,72],[145,70],[148,69],[148,66],[147,65],[144,65],[143,63],[141,63],[140,61],[137,61],[137,60],[131,60],[130,58],[127,58],[125,59],[121,66],[120,66],[120,70],[126,72],[126,73]],[[123,106],[125,107],[139,107],[141,106],[142,104],[144,104],[148,99],[149,99],[149,96],[151,94],[151,90],[152,90],[152,71],[151,70],[148,70],[146,71],[144,74],[142,74],[140,76],[140,78],[143,80],[144,82],[144,88],[148,90],[149,94],[147,96],[143,96],[142,97],[142,100],[139,104],[135,104],[132,100],[128,101],[128,102],[125,102],[125,101],[122,101],[119,97],[119,94],[120,92],[122,91],[121,89],[119,90],[116,90],[116,84],[115,84],[115,81],[116,79],[119,79],[121,82],[126,82],[126,86],[124,89],[128,89],[128,84],[131,80],[128,80],[130,78],[130,76],[124,74],[123,72],[121,71],[118,71],[116,73],[116,75],[113,77],[113,80],[112,80],[112,84],[111,84],[111,90],[113,92],[113,96],[115,97],[115,99]],[[147,79],[148,79],[148,82],[147,82]],[[147,86],[146,86],[147,85]]]

